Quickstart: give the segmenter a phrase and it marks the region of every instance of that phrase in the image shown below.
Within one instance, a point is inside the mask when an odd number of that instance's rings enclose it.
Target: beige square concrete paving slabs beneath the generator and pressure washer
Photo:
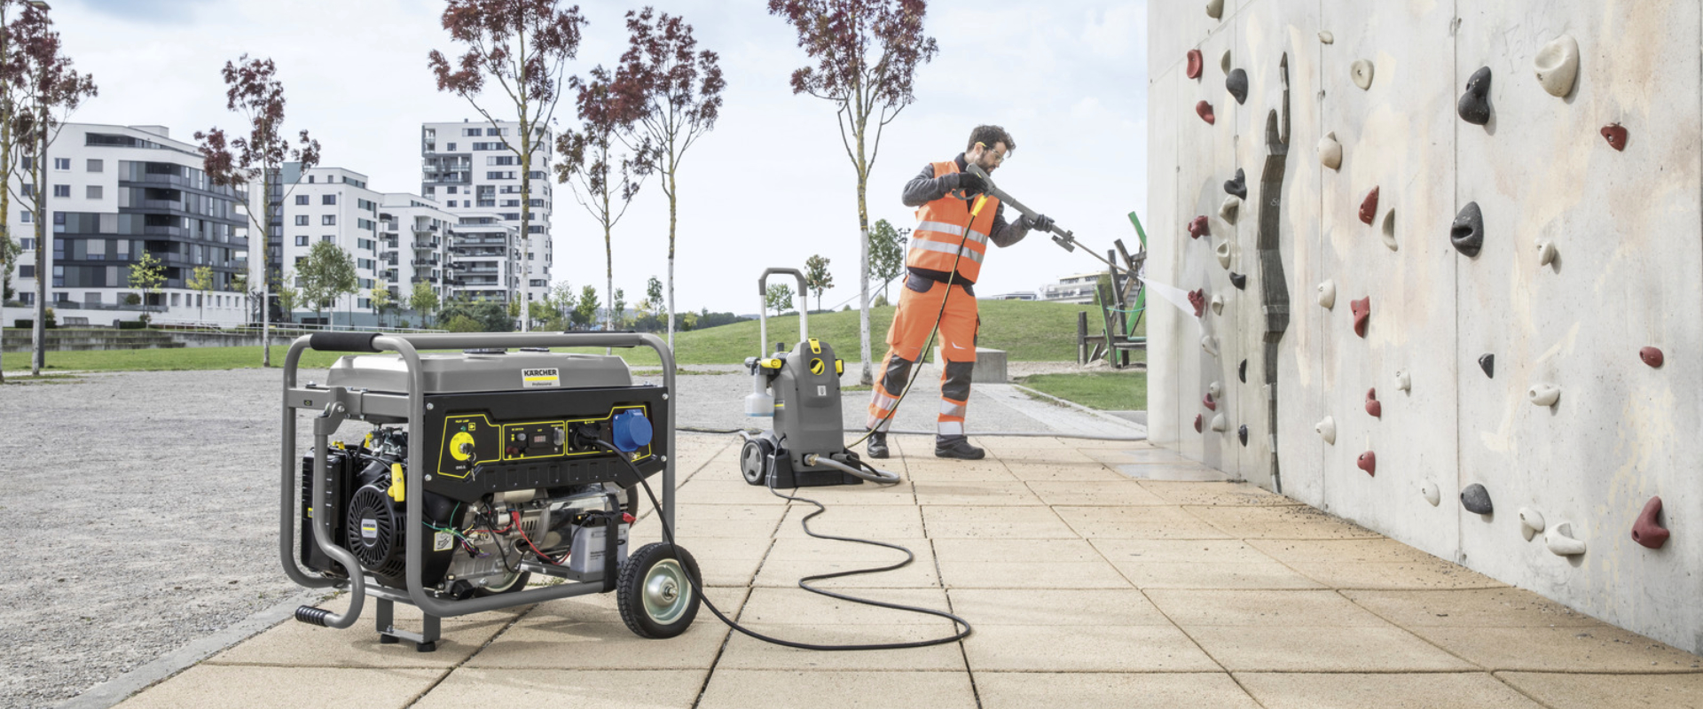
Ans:
[[[829,505],[816,530],[894,541],[916,563],[826,585],[950,609],[974,624],[960,643],[811,653],[707,610],[647,641],[593,595],[446,621],[436,653],[380,644],[370,619],[286,621],[123,706],[1703,706],[1696,655],[1146,444],[981,439],[988,459],[954,462],[928,437],[892,442],[904,483],[804,493]],[[950,634],[799,590],[899,554],[806,537],[812,507],[746,486],[736,457],[729,437],[681,435],[679,541],[717,607],[811,643]],[[647,522],[635,542],[657,537]]]

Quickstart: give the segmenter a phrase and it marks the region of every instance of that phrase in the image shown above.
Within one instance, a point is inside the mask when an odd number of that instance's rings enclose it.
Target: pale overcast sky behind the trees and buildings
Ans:
[[[419,126],[477,117],[439,94],[427,51],[453,46],[443,0],[51,0],[66,51],[100,95],[72,121],[162,124],[191,141],[211,126],[242,133],[225,111],[220,68],[249,53],[278,61],[290,100],[286,128],[308,129],[322,165],[371,177],[383,192],[419,192]],[[567,5],[564,2],[564,5]],[[591,20],[569,71],[613,65],[625,49],[630,2],[582,0]],[[720,54],[725,104],[715,131],[679,170],[676,303],[681,309],[754,313],[756,277],[770,265],[833,260],[823,303],[857,294],[857,179],[829,102],[794,95],[807,63],[795,34],[765,0],[666,0],[700,48]],[[1017,151],[1000,187],[1047,213],[1095,248],[1134,230],[1146,209],[1146,2],[988,0],[930,3],[940,54],[918,71],[916,102],[887,126],[869,185],[870,218],[913,226],[899,202],[925,163],[949,160],[981,122],[1005,126]],[[572,111],[559,111],[565,124]],[[603,235],[560,185],[552,277],[603,286]],[[642,298],[668,255],[668,201],[645,184],[615,231],[615,286]],[[1097,262],[1032,238],[988,257],[976,291],[1034,291]],[[814,308],[814,303],[812,303]],[[879,335],[877,335],[879,337]]]

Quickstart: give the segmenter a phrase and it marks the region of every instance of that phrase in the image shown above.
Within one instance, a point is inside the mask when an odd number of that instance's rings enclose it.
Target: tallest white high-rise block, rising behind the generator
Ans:
[[[460,272],[462,286],[453,296],[540,299],[550,286],[550,131],[535,128],[531,151],[530,223],[521,228],[521,160],[519,124],[514,121],[462,121],[421,124],[421,194],[462,218],[458,235],[467,228],[509,226],[518,241],[513,267],[485,264]],[[489,252],[492,231],[463,236],[467,248]],[[509,270],[513,269],[513,270]],[[501,274],[496,270],[502,270]],[[490,281],[490,282],[487,282]],[[525,296],[521,296],[525,292]]]

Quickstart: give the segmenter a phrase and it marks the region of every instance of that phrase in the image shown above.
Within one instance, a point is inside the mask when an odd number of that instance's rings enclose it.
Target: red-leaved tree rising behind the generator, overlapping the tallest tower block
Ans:
[[[487,78],[502,90],[499,100],[506,99],[513,109],[506,116],[514,116],[519,136],[511,141],[504,134],[502,145],[521,167],[521,301],[531,299],[533,151],[555,117],[562,71],[579,53],[582,26],[577,5],[559,10],[555,0],[448,0],[443,29],[467,51],[453,65],[438,49],[427,54],[438,90],[467,99],[490,128],[506,133],[492,111],[475,100]]]

